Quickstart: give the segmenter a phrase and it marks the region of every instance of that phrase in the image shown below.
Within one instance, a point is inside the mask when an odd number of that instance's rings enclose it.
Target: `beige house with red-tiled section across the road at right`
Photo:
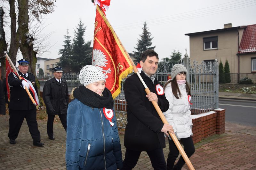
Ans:
[[[222,29],[185,35],[189,36],[191,61],[207,63],[217,58],[224,66],[228,60],[230,73],[236,73],[231,79],[249,77],[256,83],[256,24],[232,27],[229,23]]]

